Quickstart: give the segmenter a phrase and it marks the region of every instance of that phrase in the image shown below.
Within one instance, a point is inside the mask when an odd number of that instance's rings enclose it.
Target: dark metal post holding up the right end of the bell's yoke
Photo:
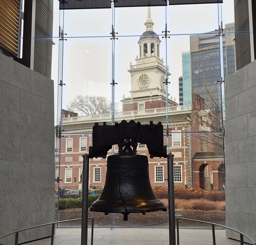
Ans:
[[[168,205],[169,205],[169,244],[176,245],[175,239],[175,206],[174,206],[174,173],[173,155],[167,155],[168,168]]]

